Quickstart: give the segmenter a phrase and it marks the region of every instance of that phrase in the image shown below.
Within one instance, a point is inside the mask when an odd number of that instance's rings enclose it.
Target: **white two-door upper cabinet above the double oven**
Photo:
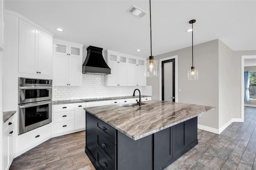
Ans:
[[[19,19],[18,71],[52,76],[52,35]]]

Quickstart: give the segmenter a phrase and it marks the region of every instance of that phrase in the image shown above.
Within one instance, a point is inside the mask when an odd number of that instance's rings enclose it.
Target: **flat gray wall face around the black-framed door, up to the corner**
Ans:
[[[194,46],[194,66],[199,80],[187,80],[187,70],[192,66],[192,48],[155,56],[163,59],[178,55],[178,102],[214,106],[216,109],[198,118],[198,124],[218,129],[218,40]],[[159,100],[159,77],[147,78],[152,86],[152,99]]]

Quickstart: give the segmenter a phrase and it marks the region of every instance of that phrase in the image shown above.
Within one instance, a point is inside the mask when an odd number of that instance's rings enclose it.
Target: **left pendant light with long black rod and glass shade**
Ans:
[[[158,60],[154,60],[152,56],[152,36],[151,36],[151,2],[149,0],[149,14],[150,14],[150,56],[144,66],[144,75],[146,77],[159,76]]]

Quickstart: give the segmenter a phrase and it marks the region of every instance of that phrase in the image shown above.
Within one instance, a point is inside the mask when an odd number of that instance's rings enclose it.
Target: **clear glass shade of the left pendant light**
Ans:
[[[146,61],[144,66],[144,76],[146,77],[152,77],[152,76],[159,76],[159,61],[154,60],[153,56],[149,57],[149,60]]]

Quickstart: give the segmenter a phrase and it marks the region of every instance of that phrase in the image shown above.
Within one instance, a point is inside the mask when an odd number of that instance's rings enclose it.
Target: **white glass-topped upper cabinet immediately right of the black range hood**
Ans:
[[[111,74],[105,76],[106,86],[127,86],[127,56],[114,51],[105,51]]]

